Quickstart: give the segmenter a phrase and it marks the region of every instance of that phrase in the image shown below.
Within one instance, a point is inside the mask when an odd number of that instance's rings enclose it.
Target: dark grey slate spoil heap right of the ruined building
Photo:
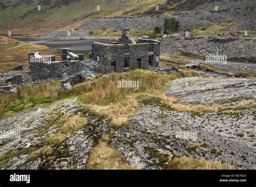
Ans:
[[[256,62],[255,35],[171,34],[161,42],[161,52],[206,59],[207,55],[226,55],[227,61]]]

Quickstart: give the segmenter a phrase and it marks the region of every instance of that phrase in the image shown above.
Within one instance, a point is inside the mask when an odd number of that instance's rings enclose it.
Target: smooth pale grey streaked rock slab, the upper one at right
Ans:
[[[247,78],[187,77],[171,82],[165,92],[179,103],[238,104],[255,100],[256,81]]]

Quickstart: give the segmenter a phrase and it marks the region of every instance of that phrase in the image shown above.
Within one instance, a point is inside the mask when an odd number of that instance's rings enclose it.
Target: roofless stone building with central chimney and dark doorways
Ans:
[[[123,30],[122,37],[111,45],[94,42],[89,58],[100,62],[103,72],[148,69],[159,66],[160,41],[130,37],[129,28]]]

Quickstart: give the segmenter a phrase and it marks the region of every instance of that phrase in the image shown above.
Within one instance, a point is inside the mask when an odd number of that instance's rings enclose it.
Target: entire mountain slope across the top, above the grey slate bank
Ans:
[[[41,6],[39,11],[38,6]],[[14,34],[38,35],[76,28],[92,17],[159,14],[176,17],[181,26],[186,25],[181,30],[190,27],[204,30],[211,25],[232,22],[227,30],[254,31],[255,6],[256,2],[250,0],[0,0],[0,33],[11,29]],[[90,21],[85,24],[90,26]]]

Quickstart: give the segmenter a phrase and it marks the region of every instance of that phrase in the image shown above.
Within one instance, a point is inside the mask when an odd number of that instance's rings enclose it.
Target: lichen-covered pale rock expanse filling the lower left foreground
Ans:
[[[51,155],[39,155],[35,159],[29,156],[31,151],[41,152],[44,141],[60,132],[58,121],[73,115],[84,116],[88,124],[74,135],[66,137],[59,146],[51,145]],[[62,124],[63,125],[63,124]],[[17,156],[1,160],[1,169],[85,169],[88,152],[97,145],[102,136],[109,134],[109,119],[97,117],[84,110],[75,100],[63,100],[48,108],[39,108],[17,114],[0,121],[1,132],[20,132],[20,138],[4,139],[0,146],[0,155],[16,152]],[[18,153],[21,150],[28,152]]]

